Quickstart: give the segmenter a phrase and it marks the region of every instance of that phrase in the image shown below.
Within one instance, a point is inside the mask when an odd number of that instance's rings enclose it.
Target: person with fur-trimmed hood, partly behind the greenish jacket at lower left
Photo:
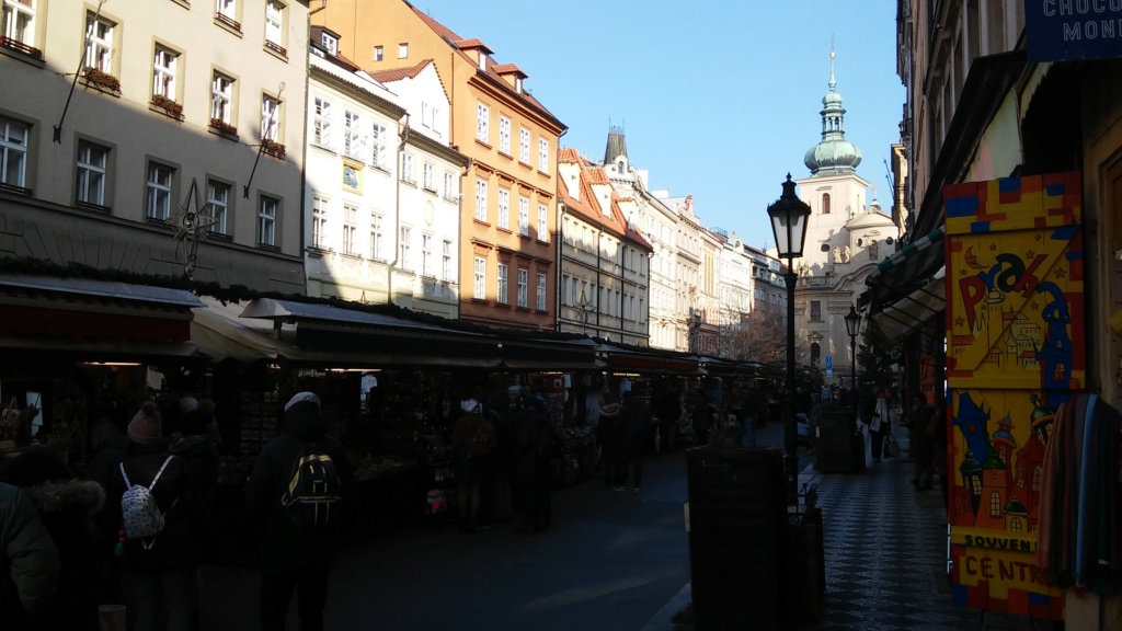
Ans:
[[[55,595],[33,628],[96,631],[109,559],[93,515],[105,504],[104,490],[96,482],[76,479],[58,454],[45,447],[20,454],[3,477],[31,499],[58,549]]]

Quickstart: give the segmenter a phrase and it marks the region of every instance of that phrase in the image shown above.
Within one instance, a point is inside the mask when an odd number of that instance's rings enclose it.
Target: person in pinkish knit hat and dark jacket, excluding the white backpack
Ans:
[[[114,555],[120,557],[130,628],[186,631],[200,598],[197,570],[206,550],[219,539],[218,529],[195,490],[186,460],[164,447],[155,403],[141,406],[127,433],[129,449],[110,479],[105,512],[109,523],[121,524],[111,542],[117,543]],[[150,488],[164,514],[164,528],[155,538],[128,539],[123,533],[121,496],[129,485],[137,484]]]

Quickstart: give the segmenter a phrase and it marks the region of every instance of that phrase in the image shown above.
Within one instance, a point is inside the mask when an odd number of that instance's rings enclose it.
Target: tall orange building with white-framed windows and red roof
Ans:
[[[331,0],[311,19],[339,33],[340,54],[364,70],[433,62],[451,102],[451,145],[471,159],[460,182],[460,318],[552,329],[565,126],[525,91],[526,74],[404,0]]]

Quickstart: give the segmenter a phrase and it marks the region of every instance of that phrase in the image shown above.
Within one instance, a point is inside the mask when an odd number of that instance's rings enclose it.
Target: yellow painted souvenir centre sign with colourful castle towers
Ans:
[[[1036,566],[1056,408],[1084,387],[1080,176],[947,186],[947,385],[955,603],[1063,619]]]

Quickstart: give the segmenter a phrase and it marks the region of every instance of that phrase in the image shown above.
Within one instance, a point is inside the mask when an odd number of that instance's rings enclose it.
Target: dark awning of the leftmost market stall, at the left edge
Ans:
[[[0,274],[0,348],[91,360],[194,355],[193,293],[89,278]]]

